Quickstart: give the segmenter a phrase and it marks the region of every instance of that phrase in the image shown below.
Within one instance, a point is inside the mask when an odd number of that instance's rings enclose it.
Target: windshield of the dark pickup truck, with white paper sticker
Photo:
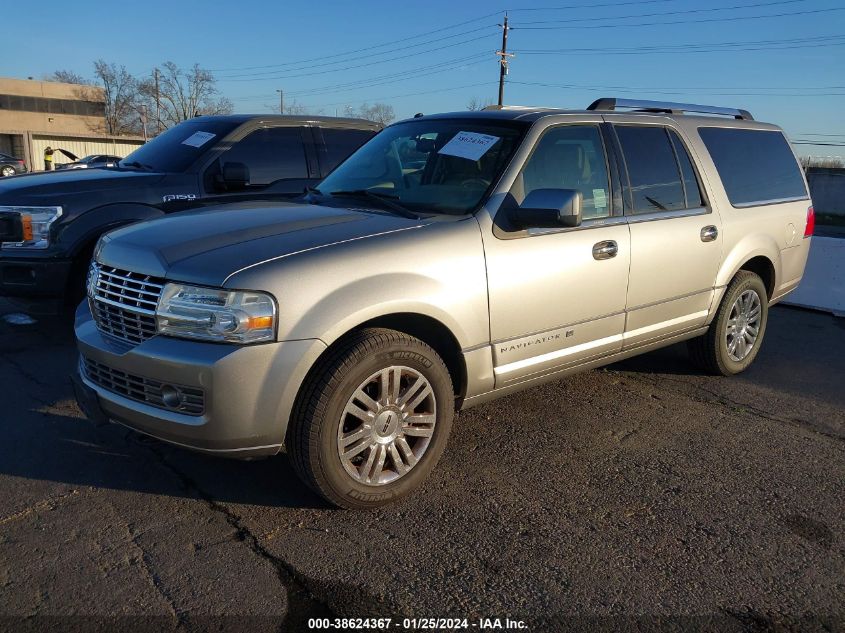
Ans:
[[[121,167],[183,172],[239,125],[231,119],[198,117],[156,136],[120,161]]]

